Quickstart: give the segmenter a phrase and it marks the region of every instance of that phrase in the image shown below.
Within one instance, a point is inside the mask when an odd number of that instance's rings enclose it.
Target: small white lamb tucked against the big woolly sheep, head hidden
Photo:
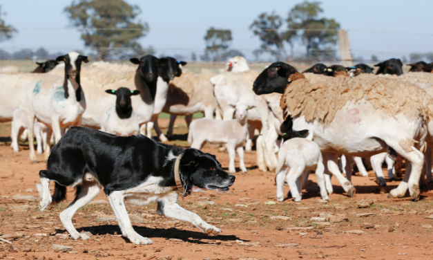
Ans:
[[[288,173],[287,168],[289,168]],[[291,197],[294,198],[296,202],[301,200],[302,174],[304,174],[306,170],[316,171],[317,183],[320,187],[320,196],[322,196],[322,199],[325,201],[329,200],[325,187],[325,176],[323,174],[325,166],[323,165],[320,147],[316,142],[305,138],[292,138],[285,141],[280,147],[280,151],[278,151],[278,167],[276,170],[278,201],[284,201],[282,188],[285,178],[287,178],[287,183],[289,183]]]

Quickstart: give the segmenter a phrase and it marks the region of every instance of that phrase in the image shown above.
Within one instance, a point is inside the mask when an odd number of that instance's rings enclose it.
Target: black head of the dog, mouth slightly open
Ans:
[[[179,171],[188,190],[198,187],[227,192],[235,182],[235,176],[223,171],[214,155],[193,148],[184,150]]]

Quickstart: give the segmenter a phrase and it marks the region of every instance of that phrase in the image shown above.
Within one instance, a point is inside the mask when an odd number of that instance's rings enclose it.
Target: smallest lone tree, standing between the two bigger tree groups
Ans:
[[[227,52],[232,39],[231,30],[218,30],[213,27],[209,28],[206,35],[204,35],[206,50],[204,51],[203,57],[205,59],[213,60],[214,62],[224,60],[224,53]]]

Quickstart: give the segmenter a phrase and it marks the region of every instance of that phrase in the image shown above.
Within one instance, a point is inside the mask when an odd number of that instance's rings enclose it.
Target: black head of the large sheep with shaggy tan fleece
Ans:
[[[258,75],[253,84],[253,91],[257,95],[284,93],[290,75],[297,72],[296,68],[289,64],[274,62]]]

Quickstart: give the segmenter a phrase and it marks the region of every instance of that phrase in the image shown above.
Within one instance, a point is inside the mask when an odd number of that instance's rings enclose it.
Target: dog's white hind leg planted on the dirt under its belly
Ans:
[[[81,239],[87,240],[90,239],[90,237],[86,234],[79,234],[79,232],[74,228],[74,225],[72,223],[72,218],[77,212],[77,210],[80,207],[83,207],[87,203],[89,203],[97,194],[99,194],[99,191],[101,190],[101,187],[97,185],[96,183],[90,183],[90,182],[84,182],[81,186],[77,187],[77,195],[75,197],[75,200],[70,203],[66,209],[60,213],[60,221],[63,223],[66,230],[68,230],[70,236],[73,239]]]

